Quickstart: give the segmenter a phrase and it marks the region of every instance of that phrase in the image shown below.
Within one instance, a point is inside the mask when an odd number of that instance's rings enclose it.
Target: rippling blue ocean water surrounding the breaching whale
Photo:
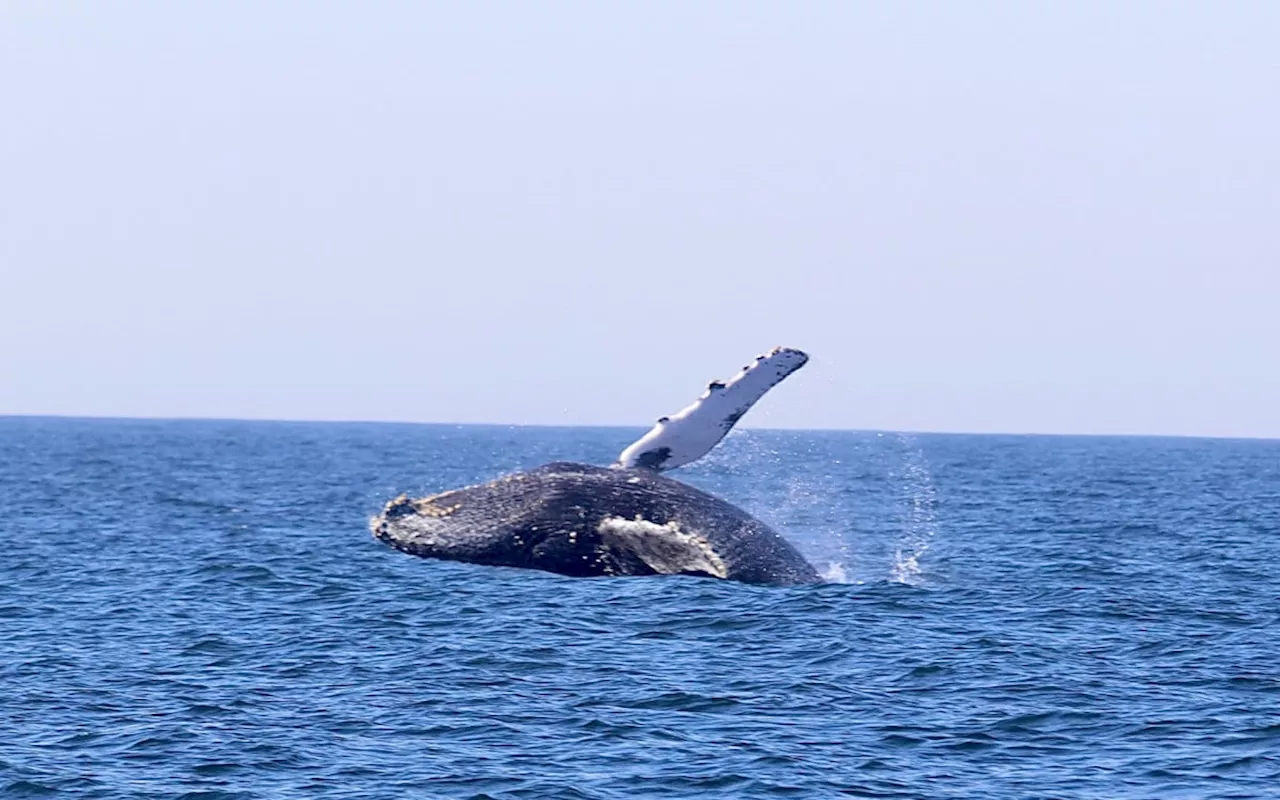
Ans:
[[[367,517],[640,430],[0,419],[0,795],[1277,797],[1280,442],[742,431],[832,582]]]

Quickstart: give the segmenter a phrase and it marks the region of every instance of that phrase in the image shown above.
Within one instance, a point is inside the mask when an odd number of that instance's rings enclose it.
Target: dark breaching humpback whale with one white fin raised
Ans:
[[[397,497],[370,521],[415,556],[570,576],[698,575],[809,584],[814,568],[741,508],[659,472],[691,463],[809,357],[774,348],[662,417],[612,467],[554,462],[431,497]]]

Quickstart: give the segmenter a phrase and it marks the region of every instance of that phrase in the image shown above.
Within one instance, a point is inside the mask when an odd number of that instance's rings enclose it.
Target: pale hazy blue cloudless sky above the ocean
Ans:
[[[1280,438],[1280,4],[0,4],[0,413]]]

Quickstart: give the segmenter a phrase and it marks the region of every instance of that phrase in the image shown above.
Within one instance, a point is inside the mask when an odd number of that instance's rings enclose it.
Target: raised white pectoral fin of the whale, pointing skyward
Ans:
[[[662,417],[653,430],[622,451],[614,466],[673,470],[698,461],[719,444],[764,393],[809,361],[799,349],[774,347],[727,381],[713,380],[691,406]]]

